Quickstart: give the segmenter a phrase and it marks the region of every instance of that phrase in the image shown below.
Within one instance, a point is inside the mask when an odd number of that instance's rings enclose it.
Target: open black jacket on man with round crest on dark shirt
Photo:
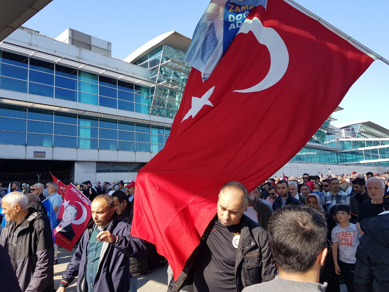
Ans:
[[[202,247],[216,220],[218,220],[217,216],[208,225],[198,248],[186,261],[177,281],[172,277],[168,292],[178,292],[185,285],[193,284],[195,260],[197,257],[202,256]],[[241,292],[247,286],[273,280],[276,274],[275,261],[270,250],[266,230],[244,214],[240,222],[240,241],[235,262],[235,285],[237,292]]]

